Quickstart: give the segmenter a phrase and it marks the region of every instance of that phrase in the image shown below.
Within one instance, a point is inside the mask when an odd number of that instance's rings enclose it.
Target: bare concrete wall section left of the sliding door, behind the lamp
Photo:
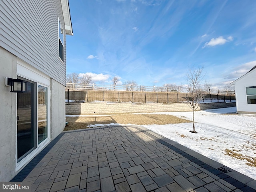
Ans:
[[[15,176],[16,94],[4,86],[4,77],[16,78],[16,63],[16,56],[0,47],[0,181],[9,181]]]

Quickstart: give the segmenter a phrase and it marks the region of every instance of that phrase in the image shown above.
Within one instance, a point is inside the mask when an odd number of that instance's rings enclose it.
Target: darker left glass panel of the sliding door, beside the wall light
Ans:
[[[28,91],[26,93],[17,93],[18,161],[36,148],[34,86],[34,83],[28,82]]]

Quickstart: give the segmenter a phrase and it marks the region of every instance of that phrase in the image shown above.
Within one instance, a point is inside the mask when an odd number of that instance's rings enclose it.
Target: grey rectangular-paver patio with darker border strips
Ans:
[[[130,125],[62,132],[12,181],[33,192],[256,191],[256,180]]]

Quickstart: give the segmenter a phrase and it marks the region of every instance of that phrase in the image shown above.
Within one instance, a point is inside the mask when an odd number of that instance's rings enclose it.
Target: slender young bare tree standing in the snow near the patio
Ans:
[[[186,75],[187,88],[188,88],[188,102],[193,111],[193,131],[192,133],[197,133],[195,130],[195,119],[194,114],[195,110],[199,107],[199,102],[204,98],[205,94],[203,91],[204,86],[202,82],[202,70],[203,68],[190,69]]]

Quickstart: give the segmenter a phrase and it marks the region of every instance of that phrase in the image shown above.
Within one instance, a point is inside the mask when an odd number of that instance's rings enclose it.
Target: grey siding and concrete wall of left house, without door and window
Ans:
[[[2,182],[10,181],[65,127],[66,45],[64,33],[64,62],[62,62],[58,53],[58,19],[64,26],[61,0],[0,0],[0,181]],[[40,144],[37,142],[36,148],[19,161],[17,160],[17,93],[11,93],[10,87],[5,86],[4,83],[4,77],[16,79],[17,76],[30,80],[35,85],[44,86],[48,90],[47,106],[36,105],[38,118],[41,115],[45,117],[47,112],[48,136]],[[22,118],[26,119],[26,115]]]

